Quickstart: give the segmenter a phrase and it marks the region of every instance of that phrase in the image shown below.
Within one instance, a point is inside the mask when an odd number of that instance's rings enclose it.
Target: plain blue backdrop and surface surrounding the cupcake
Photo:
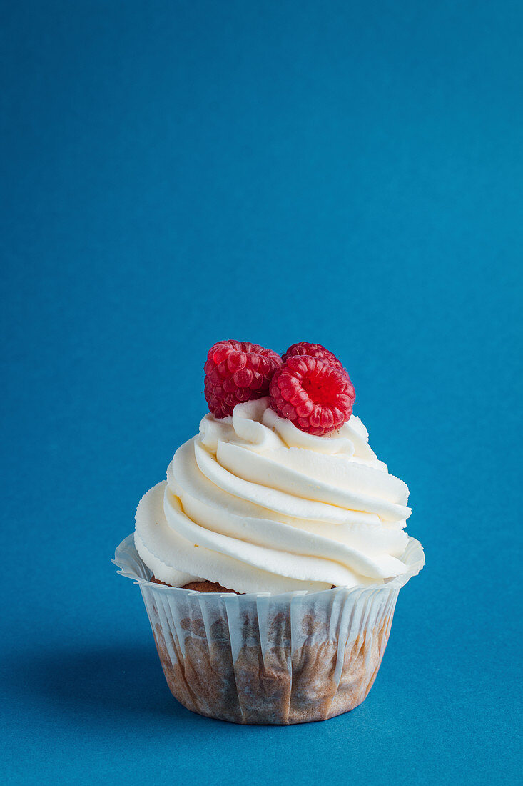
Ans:
[[[518,780],[520,2],[2,9],[2,777]],[[171,699],[110,564],[221,338],[346,363],[427,565],[368,700]]]

